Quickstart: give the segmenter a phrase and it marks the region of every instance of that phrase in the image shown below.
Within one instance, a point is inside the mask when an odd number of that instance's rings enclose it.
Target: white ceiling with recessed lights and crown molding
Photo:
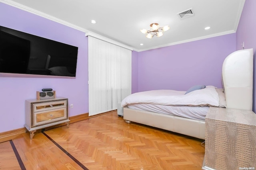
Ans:
[[[245,0],[0,0],[84,32],[112,39],[135,51],[236,32]],[[194,16],[178,13],[192,8]],[[96,20],[96,24],[90,23]],[[148,39],[151,23],[170,29]],[[211,29],[204,30],[210,26]],[[140,45],[143,43],[144,45]]]

